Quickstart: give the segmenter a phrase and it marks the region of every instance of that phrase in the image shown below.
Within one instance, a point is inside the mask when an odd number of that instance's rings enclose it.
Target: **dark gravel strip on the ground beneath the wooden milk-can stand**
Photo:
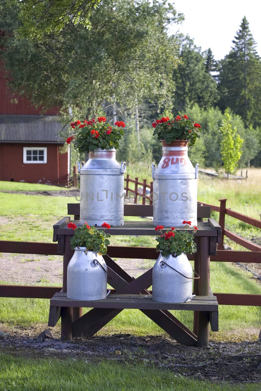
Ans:
[[[122,364],[155,365],[177,376],[211,382],[257,383],[261,381],[261,344],[255,342],[211,342],[207,348],[186,347],[161,336],[133,337],[130,334],[100,335],[62,342],[37,341],[29,336],[0,336],[2,353],[24,358],[113,360]]]

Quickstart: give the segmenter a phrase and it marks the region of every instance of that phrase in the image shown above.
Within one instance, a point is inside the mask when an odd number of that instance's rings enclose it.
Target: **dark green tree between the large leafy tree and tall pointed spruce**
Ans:
[[[202,108],[211,107],[218,100],[216,81],[206,72],[201,48],[194,45],[189,36],[176,36],[180,61],[173,71],[175,93],[173,105],[176,111],[188,104],[197,103]]]

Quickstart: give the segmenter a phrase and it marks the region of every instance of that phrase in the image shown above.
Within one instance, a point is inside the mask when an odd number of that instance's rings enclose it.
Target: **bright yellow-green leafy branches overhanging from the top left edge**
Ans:
[[[45,36],[61,34],[70,24],[90,28],[90,14],[100,0],[5,0],[9,12],[18,6],[22,21],[19,34],[23,38],[43,41]]]

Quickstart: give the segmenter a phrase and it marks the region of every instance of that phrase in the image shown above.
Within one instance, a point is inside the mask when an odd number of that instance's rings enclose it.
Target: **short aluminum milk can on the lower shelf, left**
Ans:
[[[74,249],[67,268],[67,297],[74,300],[101,300],[107,293],[107,266],[102,255],[86,247]]]

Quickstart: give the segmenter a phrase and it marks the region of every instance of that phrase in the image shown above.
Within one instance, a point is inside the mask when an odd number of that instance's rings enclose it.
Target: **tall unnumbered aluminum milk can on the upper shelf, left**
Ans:
[[[124,174],[126,163],[116,160],[116,150],[96,148],[89,152],[80,173],[80,224],[101,227],[123,225]]]

